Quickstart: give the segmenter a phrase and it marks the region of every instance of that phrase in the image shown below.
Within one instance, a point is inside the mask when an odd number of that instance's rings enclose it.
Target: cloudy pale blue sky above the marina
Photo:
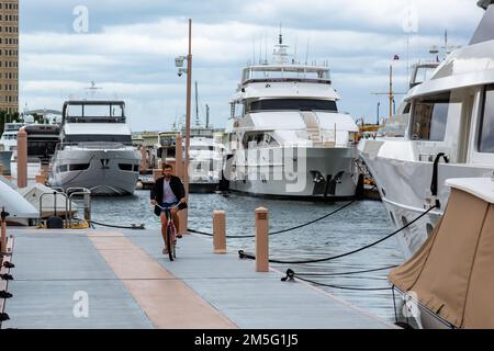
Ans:
[[[467,45],[482,18],[476,0],[20,0],[21,111],[61,110],[65,100],[126,102],[133,131],[165,131],[183,121],[184,76],[175,57],[188,50],[199,115],[224,127],[248,63],[272,58],[281,32],[297,61],[328,61],[340,111],[375,123],[388,111],[394,55],[396,92],[407,67],[433,45]],[[295,54],[296,53],[296,54]],[[101,88],[90,91],[91,81]],[[396,97],[396,105],[401,95]],[[192,121],[195,121],[193,102]]]

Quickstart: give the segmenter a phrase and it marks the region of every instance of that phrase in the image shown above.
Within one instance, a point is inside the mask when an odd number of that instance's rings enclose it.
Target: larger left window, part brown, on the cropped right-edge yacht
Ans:
[[[413,139],[442,141],[446,134],[449,105],[449,93],[416,102],[413,120]]]

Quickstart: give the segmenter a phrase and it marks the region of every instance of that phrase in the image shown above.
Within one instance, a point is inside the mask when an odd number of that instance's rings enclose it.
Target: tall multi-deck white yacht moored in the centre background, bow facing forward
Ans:
[[[290,60],[280,35],[274,61],[245,68],[232,101],[231,190],[280,199],[355,196],[359,129],[338,112],[338,100],[327,65]]]

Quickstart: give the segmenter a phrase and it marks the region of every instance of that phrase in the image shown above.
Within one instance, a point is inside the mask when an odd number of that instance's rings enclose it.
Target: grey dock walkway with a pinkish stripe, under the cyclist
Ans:
[[[390,329],[394,325],[211,239],[158,230],[9,228],[14,238],[2,329]]]

